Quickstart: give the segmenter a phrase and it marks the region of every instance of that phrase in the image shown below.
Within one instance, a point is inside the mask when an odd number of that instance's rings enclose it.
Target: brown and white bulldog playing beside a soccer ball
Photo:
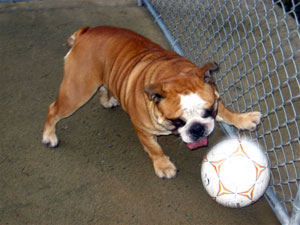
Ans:
[[[105,108],[117,106],[129,114],[155,173],[172,178],[176,167],[157,143],[159,135],[177,133],[189,148],[207,144],[215,120],[238,129],[256,129],[260,112],[238,114],[219,99],[210,71],[199,68],[174,51],[121,28],[83,27],[68,40],[64,78],[55,102],[49,106],[43,143],[56,147],[56,123],[70,116],[99,90]]]

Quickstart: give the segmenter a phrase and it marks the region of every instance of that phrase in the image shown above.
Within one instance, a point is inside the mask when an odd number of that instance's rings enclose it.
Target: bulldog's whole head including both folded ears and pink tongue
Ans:
[[[219,94],[210,72],[216,70],[216,63],[207,63],[145,88],[157,123],[180,134],[191,149],[207,145],[215,127]]]

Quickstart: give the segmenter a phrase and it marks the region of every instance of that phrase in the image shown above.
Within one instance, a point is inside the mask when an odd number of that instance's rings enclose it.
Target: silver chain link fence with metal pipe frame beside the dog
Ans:
[[[227,107],[262,112],[260,128],[240,134],[266,150],[272,175],[265,196],[280,222],[300,224],[300,1],[138,2],[179,54],[198,65],[219,63],[215,81]]]

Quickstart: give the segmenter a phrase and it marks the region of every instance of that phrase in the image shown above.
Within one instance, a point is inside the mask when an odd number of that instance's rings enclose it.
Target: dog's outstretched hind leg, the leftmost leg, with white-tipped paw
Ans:
[[[101,82],[88,71],[77,69],[65,68],[64,79],[60,85],[57,99],[49,106],[42,140],[48,147],[56,147],[58,144],[55,132],[57,122],[72,115],[84,105],[101,85]],[[78,74],[77,71],[80,71],[81,74]]]

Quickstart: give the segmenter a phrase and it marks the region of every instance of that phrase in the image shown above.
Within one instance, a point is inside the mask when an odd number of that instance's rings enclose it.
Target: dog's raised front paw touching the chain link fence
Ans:
[[[249,112],[240,114],[240,121],[237,123],[237,128],[241,130],[254,131],[260,123],[262,114],[260,112]]]

